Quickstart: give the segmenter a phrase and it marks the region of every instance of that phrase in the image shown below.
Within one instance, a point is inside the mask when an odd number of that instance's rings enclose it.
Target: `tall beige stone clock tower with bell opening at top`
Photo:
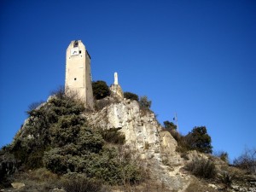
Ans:
[[[72,41],[67,47],[65,89],[77,92],[85,108],[94,108],[90,55],[81,40]]]

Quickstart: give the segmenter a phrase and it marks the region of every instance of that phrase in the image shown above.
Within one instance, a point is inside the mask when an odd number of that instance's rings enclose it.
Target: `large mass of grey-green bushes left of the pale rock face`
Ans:
[[[58,175],[76,172],[108,184],[139,182],[140,167],[117,147],[125,143],[124,135],[88,126],[81,115],[84,105],[75,95],[61,89],[28,111],[29,119],[9,152],[26,169],[46,167]]]

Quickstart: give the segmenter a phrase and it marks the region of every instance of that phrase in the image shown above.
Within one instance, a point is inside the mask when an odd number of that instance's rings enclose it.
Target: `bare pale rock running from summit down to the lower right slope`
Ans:
[[[170,190],[186,188],[189,177],[179,173],[183,159],[175,151],[177,142],[169,132],[162,131],[154,113],[141,110],[136,101],[123,100],[84,116],[91,126],[123,132],[125,144],[136,152],[152,179]]]

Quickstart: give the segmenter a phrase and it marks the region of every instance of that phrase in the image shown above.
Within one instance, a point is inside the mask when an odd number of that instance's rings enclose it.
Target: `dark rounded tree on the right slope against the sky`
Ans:
[[[195,126],[185,139],[189,149],[197,150],[206,154],[212,154],[212,139],[207,134],[206,126]]]

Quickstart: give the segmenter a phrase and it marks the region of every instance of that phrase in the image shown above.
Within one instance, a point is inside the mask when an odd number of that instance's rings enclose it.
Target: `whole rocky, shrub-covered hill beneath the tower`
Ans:
[[[146,96],[94,85],[95,110],[64,89],[30,108],[1,150],[2,191],[256,190],[255,172],[211,154],[206,128],[180,136],[160,125]]]

